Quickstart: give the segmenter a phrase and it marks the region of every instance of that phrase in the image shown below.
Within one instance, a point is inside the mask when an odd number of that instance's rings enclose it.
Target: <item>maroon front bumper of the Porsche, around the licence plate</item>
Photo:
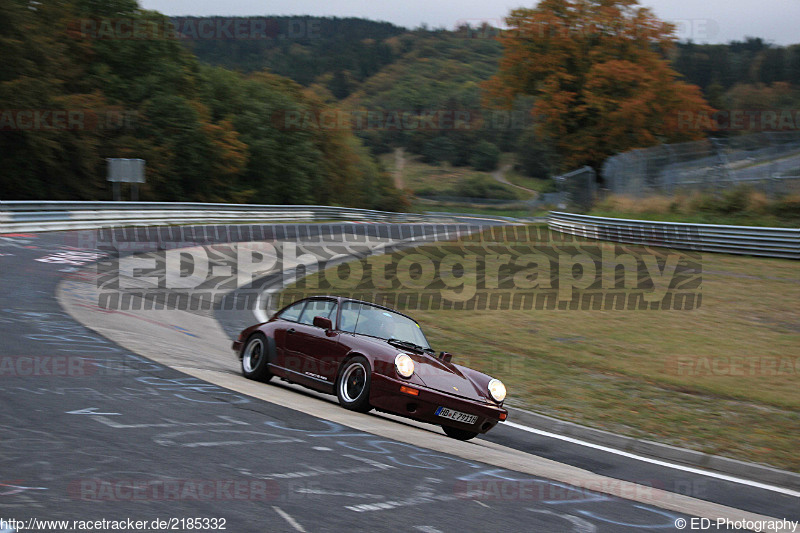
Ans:
[[[401,392],[401,386],[416,389],[419,391],[419,395],[412,396]],[[505,420],[508,416],[508,411],[497,405],[454,396],[376,373],[372,374],[369,402],[374,408],[381,411],[421,422],[450,426],[477,433],[486,433],[496,426],[500,420]],[[478,419],[474,424],[456,422],[437,416],[436,409],[439,407],[477,415]]]

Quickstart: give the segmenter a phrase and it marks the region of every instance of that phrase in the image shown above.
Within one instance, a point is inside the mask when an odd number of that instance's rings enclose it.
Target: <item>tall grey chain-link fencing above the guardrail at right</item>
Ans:
[[[606,160],[604,187],[646,196],[749,184],[770,196],[800,192],[800,132],[764,132],[632,150]]]

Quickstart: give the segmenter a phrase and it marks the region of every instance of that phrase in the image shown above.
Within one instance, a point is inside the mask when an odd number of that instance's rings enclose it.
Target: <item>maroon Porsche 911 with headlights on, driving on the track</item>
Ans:
[[[347,409],[438,424],[460,440],[508,416],[500,380],[437,355],[416,321],[369,302],[299,300],[242,331],[233,349],[247,378],[278,376],[336,394]]]

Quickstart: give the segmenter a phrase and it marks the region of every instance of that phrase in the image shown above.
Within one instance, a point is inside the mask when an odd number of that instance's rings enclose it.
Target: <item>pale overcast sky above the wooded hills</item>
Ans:
[[[508,12],[535,2],[515,0],[139,0],[142,7],[180,15],[312,15],[363,17],[415,28],[452,29],[460,21],[499,25]],[[800,43],[800,0],[640,0],[678,24],[681,40],[721,43],[761,37],[775,44]]]

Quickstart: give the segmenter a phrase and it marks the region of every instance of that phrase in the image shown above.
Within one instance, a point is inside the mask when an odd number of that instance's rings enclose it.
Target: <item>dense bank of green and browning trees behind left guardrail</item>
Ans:
[[[109,198],[105,159],[135,157],[146,201],[407,208],[352,131],[281,126],[326,111],[296,82],[203,65],[173,36],[113,21],[169,27],[136,0],[0,0],[0,199]],[[85,120],[18,119],[68,111]]]

